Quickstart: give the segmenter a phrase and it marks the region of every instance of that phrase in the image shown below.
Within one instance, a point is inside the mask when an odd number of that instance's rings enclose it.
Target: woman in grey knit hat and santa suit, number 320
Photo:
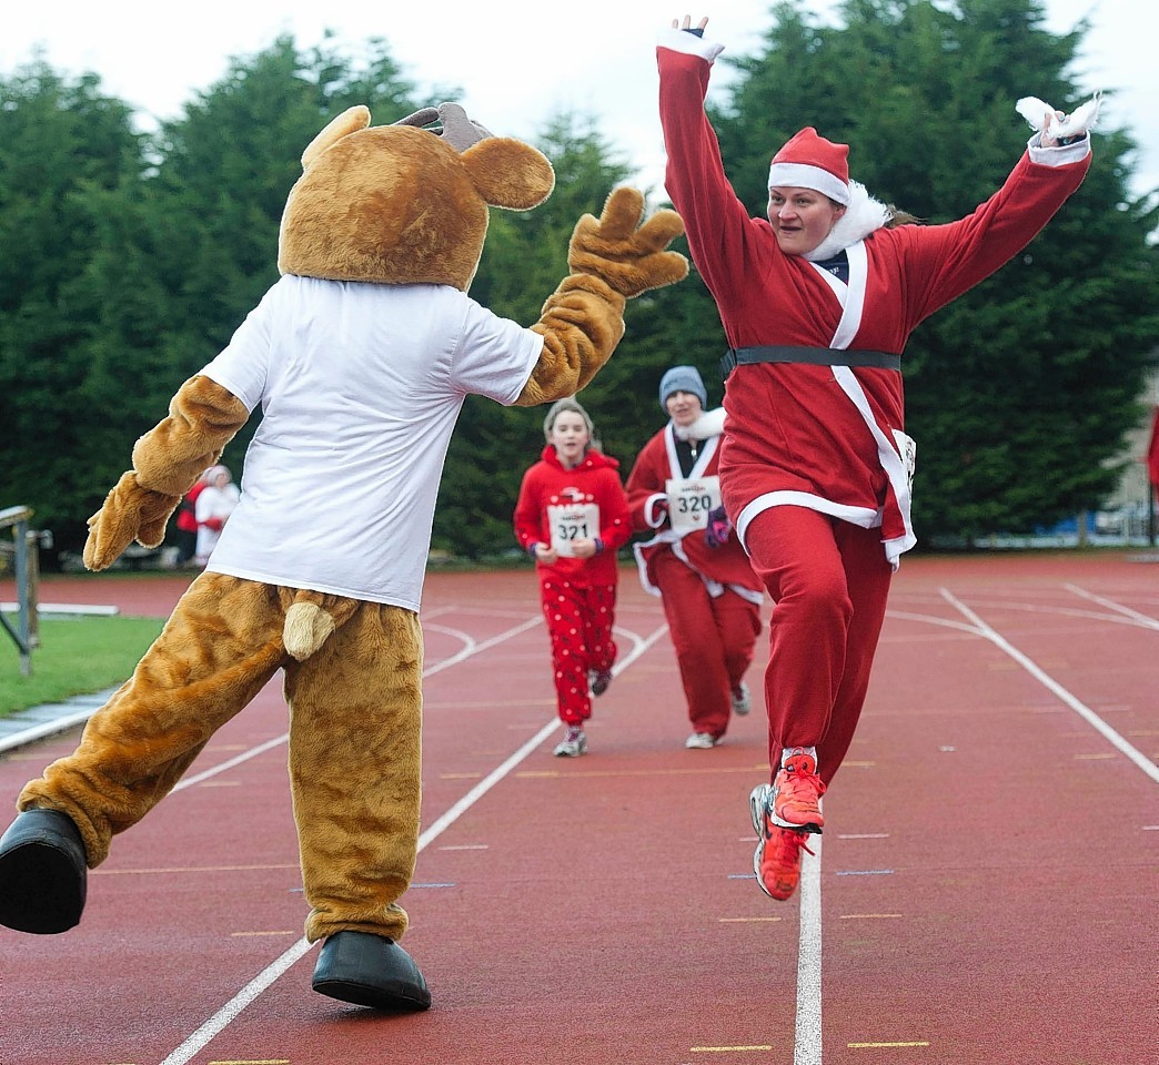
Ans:
[[[664,603],[692,734],[684,746],[715,747],[731,714],[751,705],[745,671],[760,632],[760,581],[730,535],[720,507],[723,410],[705,412],[708,394],[693,366],[673,366],[659,383],[670,421],[636,456],[628,506],[637,532],[640,581]]]

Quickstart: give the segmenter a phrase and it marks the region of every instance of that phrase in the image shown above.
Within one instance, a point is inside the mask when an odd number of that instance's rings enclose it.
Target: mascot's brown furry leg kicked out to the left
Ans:
[[[111,837],[168,794],[283,663],[282,620],[276,589],[203,573],[132,677],[89,719],[76,750],[24,786],[20,809],[67,814],[89,867],[100,865]]]

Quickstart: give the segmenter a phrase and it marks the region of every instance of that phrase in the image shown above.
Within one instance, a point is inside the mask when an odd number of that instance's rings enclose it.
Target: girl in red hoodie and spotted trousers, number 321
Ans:
[[[615,641],[615,552],[632,523],[619,463],[592,449],[595,431],[575,399],[560,399],[544,420],[547,447],[523,477],[516,539],[535,559],[544,618],[552,639],[555,695],[567,726],[560,757],[588,750],[583,725],[591,696],[612,680]]]

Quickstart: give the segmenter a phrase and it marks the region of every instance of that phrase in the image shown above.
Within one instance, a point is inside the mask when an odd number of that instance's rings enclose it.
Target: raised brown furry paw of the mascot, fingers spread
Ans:
[[[576,225],[568,249],[571,271],[593,274],[628,299],[684,280],[688,260],[664,250],[684,233],[680,215],[657,211],[641,226],[643,211],[636,189],[615,189],[599,219],[585,214]]]

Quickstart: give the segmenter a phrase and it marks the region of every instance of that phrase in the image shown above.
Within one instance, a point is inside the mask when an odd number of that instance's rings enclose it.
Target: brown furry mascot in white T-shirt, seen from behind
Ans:
[[[683,232],[643,225],[633,189],[571,236],[570,273],[524,328],[467,296],[488,205],[529,210],[547,159],[457,104],[371,126],[350,108],[311,142],[278,241],[280,279],[89,519],[109,566],[166,522],[255,406],[242,500],[205,573],[76,750],[21,792],[0,840],[0,923],[74,926],[86,867],[177,783],[213,733],[284,670],[315,991],[381,1009],[430,992],[396,940],[420,824],[418,600],[446,446],[468,394],[570,396],[624,333],[625,301],[687,273]]]

